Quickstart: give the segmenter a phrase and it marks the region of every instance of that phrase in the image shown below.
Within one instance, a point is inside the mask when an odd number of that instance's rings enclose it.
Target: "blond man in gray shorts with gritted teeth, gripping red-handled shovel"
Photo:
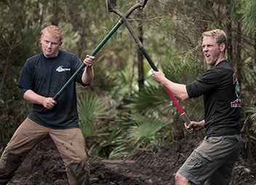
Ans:
[[[211,68],[201,78],[184,85],[169,81],[161,70],[153,71],[153,78],[183,101],[204,95],[204,120],[191,121],[185,128],[189,133],[205,128],[206,136],[177,171],[176,185],[228,185],[241,148],[239,81],[225,59],[226,34],[216,29],[202,38],[204,59]]]

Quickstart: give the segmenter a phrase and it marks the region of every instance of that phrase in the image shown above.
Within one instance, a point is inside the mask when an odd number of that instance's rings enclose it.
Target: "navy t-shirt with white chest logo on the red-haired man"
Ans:
[[[81,65],[81,60],[72,53],[59,51],[55,58],[37,54],[25,62],[17,86],[23,89],[22,96],[26,90],[31,89],[41,96],[54,97]],[[63,91],[52,110],[45,109],[41,104],[33,104],[28,118],[49,128],[78,128],[76,82],[85,86],[81,81],[82,73],[83,70]]]

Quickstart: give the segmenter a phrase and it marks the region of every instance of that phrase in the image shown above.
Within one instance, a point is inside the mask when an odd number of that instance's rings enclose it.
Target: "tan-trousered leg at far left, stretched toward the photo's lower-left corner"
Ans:
[[[12,179],[28,152],[44,138],[46,133],[39,128],[41,126],[28,118],[17,128],[1,155],[0,184]]]

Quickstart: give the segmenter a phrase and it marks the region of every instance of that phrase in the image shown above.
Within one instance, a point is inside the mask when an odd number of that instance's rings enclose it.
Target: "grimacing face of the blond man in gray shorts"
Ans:
[[[204,36],[201,46],[203,48],[204,59],[207,64],[211,66],[217,65],[217,63],[222,59],[221,50],[223,49],[218,46],[215,38],[212,38],[211,36]]]

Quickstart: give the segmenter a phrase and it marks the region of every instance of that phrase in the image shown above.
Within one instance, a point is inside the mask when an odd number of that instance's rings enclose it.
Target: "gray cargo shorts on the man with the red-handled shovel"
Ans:
[[[241,136],[207,136],[177,171],[193,184],[228,185],[239,158]]]

